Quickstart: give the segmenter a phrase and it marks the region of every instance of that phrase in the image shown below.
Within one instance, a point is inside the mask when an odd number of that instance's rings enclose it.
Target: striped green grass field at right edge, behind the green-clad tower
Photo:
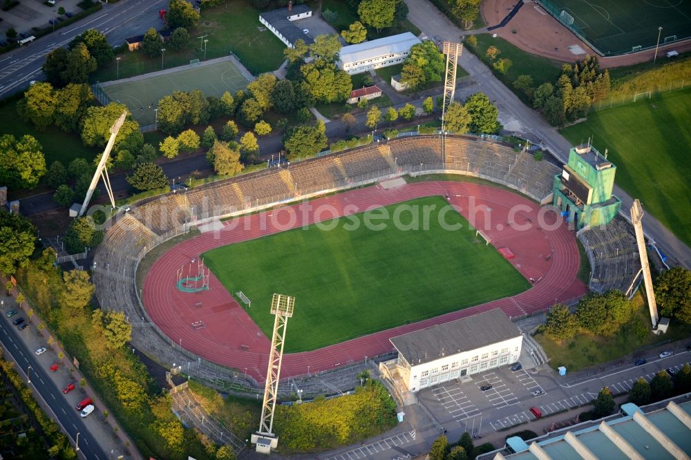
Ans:
[[[562,134],[573,144],[594,136],[616,183],[691,246],[691,89],[590,113]]]

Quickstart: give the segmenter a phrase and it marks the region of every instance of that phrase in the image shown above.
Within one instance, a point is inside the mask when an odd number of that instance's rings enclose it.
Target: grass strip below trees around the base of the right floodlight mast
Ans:
[[[646,329],[650,329],[650,314],[643,300],[641,291],[633,298],[634,309],[632,318],[641,320]],[[595,336],[589,332],[579,332],[574,338],[565,341],[555,341],[545,334],[538,332],[536,340],[545,349],[549,357],[549,365],[556,369],[565,366],[569,372],[576,372],[585,367],[607,363],[621,359],[637,349],[652,347],[659,342],[677,341],[688,337],[691,327],[674,321],[670,325],[667,334],[656,336],[649,330],[645,338],[641,340],[632,333],[632,329],[626,325],[612,338]],[[649,356],[650,353],[641,352],[636,356]],[[631,363],[627,362],[627,365]]]

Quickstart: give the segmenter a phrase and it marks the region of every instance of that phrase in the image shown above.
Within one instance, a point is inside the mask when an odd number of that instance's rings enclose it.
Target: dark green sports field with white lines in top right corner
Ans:
[[[654,48],[659,32],[661,45],[691,37],[691,0],[539,0],[538,3],[605,56]]]

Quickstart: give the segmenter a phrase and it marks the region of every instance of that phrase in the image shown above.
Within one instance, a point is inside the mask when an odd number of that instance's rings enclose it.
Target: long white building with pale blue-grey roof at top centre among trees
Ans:
[[[422,43],[415,35],[404,32],[381,39],[343,46],[336,65],[348,72],[367,72],[370,69],[395,66],[406,60],[413,45]]]

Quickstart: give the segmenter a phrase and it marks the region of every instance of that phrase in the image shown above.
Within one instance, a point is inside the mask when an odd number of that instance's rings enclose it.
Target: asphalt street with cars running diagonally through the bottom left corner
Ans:
[[[18,318],[19,315],[15,316]],[[0,320],[0,342],[9,352],[17,363],[17,370],[26,378],[28,367],[31,366],[29,376],[31,383],[29,387],[33,390],[37,399],[43,399],[53,411],[48,413],[51,418],[57,417],[58,423],[68,432],[70,439],[75,443],[77,432],[79,432],[79,453],[84,459],[107,459],[108,456],[98,445],[96,439],[84,425],[84,421],[79,416],[79,412],[68,403],[66,396],[46,374],[46,363],[40,363],[39,357],[34,350],[30,350],[24,345],[19,334],[30,334],[30,329],[23,331],[17,330],[9,320]],[[73,390],[76,391],[76,390]]]

